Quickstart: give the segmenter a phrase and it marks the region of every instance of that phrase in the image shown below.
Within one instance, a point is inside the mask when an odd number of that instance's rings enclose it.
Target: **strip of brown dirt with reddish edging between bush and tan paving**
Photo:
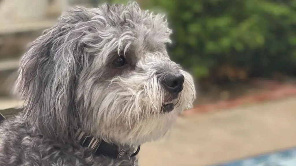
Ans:
[[[184,111],[183,115],[225,110],[240,105],[296,96],[296,84],[291,78],[284,81],[259,78],[245,83],[216,85],[213,89],[200,91],[198,94],[195,107]]]

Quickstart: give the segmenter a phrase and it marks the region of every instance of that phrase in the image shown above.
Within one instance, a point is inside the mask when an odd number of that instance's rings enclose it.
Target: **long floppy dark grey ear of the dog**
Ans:
[[[21,59],[16,88],[25,100],[27,124],[52,139],[67,139],[78,127],[74,100],[83,64],[84,30],[75,26],[88,19],[86,14],[86,9],[76,8],[61,17]]]

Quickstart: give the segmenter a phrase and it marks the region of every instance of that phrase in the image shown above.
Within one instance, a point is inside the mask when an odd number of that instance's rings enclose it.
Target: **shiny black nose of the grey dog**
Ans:
[[[182,74],[167,74],[163,80],[165,89],[171,93],[179,93],[183,90],[184,76]]]

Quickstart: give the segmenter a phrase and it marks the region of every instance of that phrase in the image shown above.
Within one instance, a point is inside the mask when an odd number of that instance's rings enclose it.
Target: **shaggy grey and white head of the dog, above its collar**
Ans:
[[[120,144],[160,138],[195,99],[191,75],[168,56],[170,34],[163,15],[134,2],[67,12],[22,57],[28,122],[56,139],[78,127]]]

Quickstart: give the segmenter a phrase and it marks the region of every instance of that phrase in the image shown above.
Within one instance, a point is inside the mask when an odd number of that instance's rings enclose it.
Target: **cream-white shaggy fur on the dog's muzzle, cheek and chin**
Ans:
[[[168,99],[168,92],[153,72],[131,72],[108,83],[96,84],[92,95],[86,93],[86,98],[91,97],[86,101],[92,101],[93,114],[86,118],[91,121],[84,122],[84,128],[98,138],[119,144],[139,145],[161,138],[178,114],[192,107],[195,99],[191,75],[180,72],[185,77],[184,89],[174,99]],[[174,108],[164,112],[163,105],[168,102]]]

